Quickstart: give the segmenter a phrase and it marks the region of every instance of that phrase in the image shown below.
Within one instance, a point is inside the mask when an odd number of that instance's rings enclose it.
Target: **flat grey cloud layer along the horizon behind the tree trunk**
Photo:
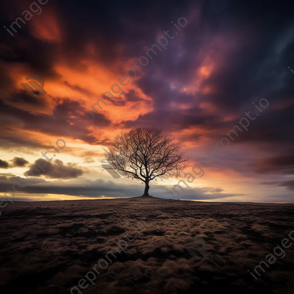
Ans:
[[[128,185],[122,183],[115,183],[114,181],[105,181],[103,179],[89,180],[88,178],[78,178],[78,180],[56,180],[48,181],[40,178],[21,178],[16,176],[0,176],[0,191],[4,192],[7,190],[7,186],[12,186],[14,183],[19,181],[20,185],[24,188],[15,185],[14,188],[17,192],[14,193],[14,199],[12,194],[8,195],[11,200],[17,200],[19,196],[18,193],[22,195],[24,199],[26,196],[31,196],[29,194],[56,194],[56,195],[70,195],[70,196],[86,196],[93,198],[125,198],[125,197],[137,197],[142,194],[142,185]],[[26,183],[26,184],[25,184]],[[191,188],[188,187],[182,193],[176,197],[166,195],[166,186],[164,185],[151,185],[152,192],[156,194],[157,197],[162,198],[172,198],[172,199],[187,199],[187,200],[206,200],[206,199],[218,199],[227,198],[234,196],[242,196],[244,194],[230,194],[230,193],[220,193],[218,189],[215,188]],[[179,190],[179,189],[178,189]],[[12,190],[13,191],[13,190]],[[180,191],[180,190],[179,190]],[[7,198],[6,198],[7,200]]]

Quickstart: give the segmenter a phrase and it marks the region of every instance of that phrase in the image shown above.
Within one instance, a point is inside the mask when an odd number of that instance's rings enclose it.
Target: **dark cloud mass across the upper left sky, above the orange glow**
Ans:
[[[15,9],[17,5],[13,2],[1,4],[2,28],[19,16]],[[87,68],[80,60],[85,56],[90,41],[99,48],[93,54],[93,58],[111,66],[116,63],[118,57],[134,56],[135,51],[143,51],[138,43],[141,40],[154,39],[156,35],[154,28],[158,24],[159,27],[163,27],[163,24],[170,23],[171,18],[178,18],[178,14],[181,14],[185,6],[188,8],[189,3],[182,3],[181,7],[178,7],[177,3],[153,1],[149,5],[150,7],[146,7],[144,3],[135,1],[125,5],[120,1],[100,3],[90,0],[87,5],[81,7],[78,1],[64,3],[49,1],[38,17],[43,17],[47,11],[53,11],[64,36],[61,42],[44,42],[32,38],[28,25],[20,29],[14,37],[3,29],[5,50],[3,49],[1,53],[5,61],[29,64],[31,71],[44,73],[46,79],[56,76],[52,69],[60,56],[63,56],[63,62],[67,65],[86,71]],[[70,13],[68,13],[69,7]],[[138,11],[141,13],[138,14]],[[116,15],[115,19],[113,15]],[[110,19],[112,21],[109,21]],[[146,26],[147,23],[149,27]],[[126,50],[119,52],[117,50],[119,44],[126,44]]]

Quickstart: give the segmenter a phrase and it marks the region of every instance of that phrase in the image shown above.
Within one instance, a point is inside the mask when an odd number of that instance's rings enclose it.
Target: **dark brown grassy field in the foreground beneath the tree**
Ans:
[[[83,294],[294,293],[294,241],[283,259],[275,255],[265,272],[258,270],[257,280],[247,271],[289,238],[293,204],[140,197],[14,202],[0,220],[5,294],[70,293],[123,233],[134,240],[106,269],[97,268],[94,284],[78,287]],[[138,233],[139,220],[147,228]],[[206,242],[201,259],[185,249],[195,236]]]

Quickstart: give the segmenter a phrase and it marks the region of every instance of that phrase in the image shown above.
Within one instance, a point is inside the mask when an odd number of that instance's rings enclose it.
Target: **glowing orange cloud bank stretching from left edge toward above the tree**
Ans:
[[[93,52],[95,48],[89,47],[89,50]],[[120,123],[124,120],[136,120],[140,115],[144,115],[150,111],[153,111],[153,99],[143,93],[142,89],[139,88],[130,78],[129,83],[126,86],[122,86],[119,83],[121,74],[118,68],[124,66],[131,66],[132,60],[124,60],[121,63],[117,63],[116,70],[112,65],[112,69],[101,64],[98,61],[92,59],[77,60],[76,64],[81,64],[80,67],[71,67],[68,64],[56,62],[53,67],[53,71],[57,74],[58,78],[46,77],[43,75],[45,85],[44,90],[47,92],[46,95],[38,96],[36,99],[42,99],[43,104],[39,105],[25,103],[25,102],[12,102],[11,95],[19,93],[19,90],[25,91],[20,85],[21,83],[27,83],[25,78],[31,74],[31,69],[28,64],[3,64],[3,68],[6,70],[10,78],[14,81],[15,88],[8,89],[6,91],[1,90],[1,95],[4,98],[4,103],[17,107],[19,109],[32,112],[32,113],[53,113],[56,108],[57,102],[54,101],[55,97],[60,99],[70,98],[72,101],[85,101],[85,106],[91,109],[93,103],[96,103],[98,98],[101,98],[106,91],[110,91],[114,98],[113,101],[121,103],[112,103],[106,101],[107,105],[102,103],[103,110],[98,108],[95,109],[98,112],[103,113],[109,120]],[[81,70],[83,68],[83,70]],[[34,73],[40,74],[41,73]],[[124,83],[126,83],[126,81]],[[113,93],[111,86],[117,83],[123,93]],[[114,91],[117,87],[114,86]],[[138,99],[136,101],[128,101],[127,94],[132,91]],[[101,102],[100,102],[101,104]],[[85,110],[86,112],[86,110]],[[89,114],[89,116],[91,116]]]

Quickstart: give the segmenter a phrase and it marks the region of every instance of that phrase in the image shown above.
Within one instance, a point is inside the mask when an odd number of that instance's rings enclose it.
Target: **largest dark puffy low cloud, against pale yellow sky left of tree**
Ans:
[[[30,171],[26,171],[24,175],[26,176],[45,176],[46,178],[55,178],[55,179],[70,179],[77,178],[83,174],[83,170],[79,168],[75,163],[64,163],[55,159],[55,161],[45,161],[42,158],[36,160],[30,168]],[[36,170],[37,169],[37,170]]]

